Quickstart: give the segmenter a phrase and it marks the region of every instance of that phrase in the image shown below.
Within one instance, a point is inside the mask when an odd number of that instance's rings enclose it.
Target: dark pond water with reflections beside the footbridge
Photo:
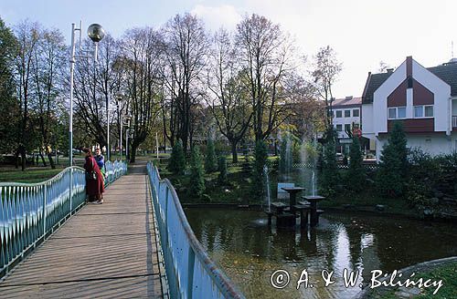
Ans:
[[[210,257],[248,298],[353,298],[372,270],[391,273],[457,255],[455,224],[328,212],[316,228],[294,232],[268,229],[261,211],[197,208],[186,215]],[[283,289],[271,286],[279,269],[290,273]],[[314,287],[297,290],[304,269]],[[356,286],[345,287],[345,269],[362,273]],[[335,284],[324,287],[323,270],[334,271]]]

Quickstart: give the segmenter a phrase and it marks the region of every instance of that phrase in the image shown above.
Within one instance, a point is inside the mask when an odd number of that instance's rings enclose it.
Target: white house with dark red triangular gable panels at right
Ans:
[[[361,112],[362,133],[377,160],[396,121],[409,148],[452,153],[457,150],[457,60],[426,68],[407,57],[395,71],[369,73]]]

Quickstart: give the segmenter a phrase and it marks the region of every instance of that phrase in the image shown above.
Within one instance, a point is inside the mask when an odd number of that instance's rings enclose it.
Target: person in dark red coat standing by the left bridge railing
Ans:
[[[86,170],[86,194],[88,195],[88,200],[89,202],[103,203],[101,193],[105,191],[105,187],[101,170],[90,149],[82,149],[82,151],[86,153],[84,170]],[[93,178],[93,171],[95,172],[95,179]]]

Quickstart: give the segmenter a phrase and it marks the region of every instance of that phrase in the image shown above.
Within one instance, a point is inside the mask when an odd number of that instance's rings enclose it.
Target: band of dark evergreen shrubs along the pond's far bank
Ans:
[[[314,151],[309,150],[312,158],[307,158],[308,164],[298,164],[300,168],[316,167],[318,193],[327,197],[322,202],[323,207],[345,209],[351,206],[353,209],[376,211],[378,205],[383,205],[383,211],[437,218],[446,218],[446,212],[453,209],[453,196],[457,192],[456,154],[431,157],[420,149],[407,149],[403,129],[397,124],[382,152],[380,165],[366,167],[360,149],[360,137],[353,136],[348,165],[344,166],[335,157],[335,131],[329,130],[326,139],[322,148],[313,148],[310,142],[304,143],[304,148]],[[206,174],[203,164],[196,167],[193,152],[189,166],[181,164],[184,165],[181,173],[189,168],[190,176],[173,174],[170,168],[163,171],[175,184],[180,199],[185,203],[262,205],[265,204],[267,187],[265,171],[270,175],[272,194],[276,193],[277,182],[282,181],[278,165],[282,163],[281,151],[284,147],[282,144],[278,146],[280,154],[275,156],[261,141],[251,154],[244,155],[241,163],[228,160],[229,149],[225,153],[221,151],[218,154],[218,170]],[[404,168],[401,177],[396,174],[400,165]],[[300,181],[300,170],[292,167],[291,181]],[[395,178],[395,181],[391,178]],[[194,193],[194,196],[190,195]]]

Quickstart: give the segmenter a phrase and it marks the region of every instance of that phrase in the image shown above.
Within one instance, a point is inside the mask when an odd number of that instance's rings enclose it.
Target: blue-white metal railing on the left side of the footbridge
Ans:
[[[105,184],[127,172],[123,161],[107,161]],[[0,183],[0,278],[86,200],[84,169],[73,166],[40,183]]]

